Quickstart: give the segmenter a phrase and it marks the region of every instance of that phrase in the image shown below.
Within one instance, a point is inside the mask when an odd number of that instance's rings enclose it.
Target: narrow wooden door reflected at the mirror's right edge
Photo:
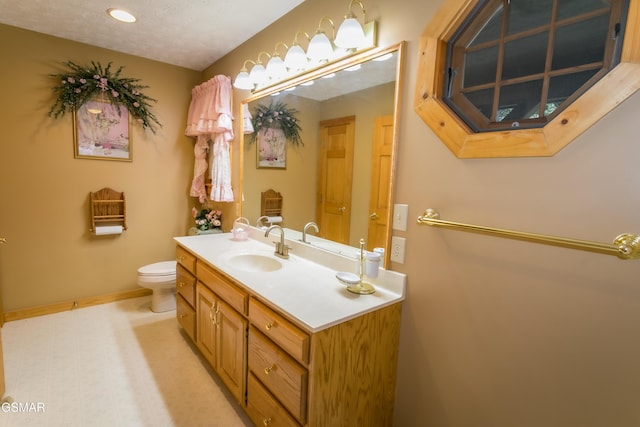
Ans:
[[[387,247],[391,156],[393,154],[393,116],[376,117],[373,130],[371,194],[367,250]]]

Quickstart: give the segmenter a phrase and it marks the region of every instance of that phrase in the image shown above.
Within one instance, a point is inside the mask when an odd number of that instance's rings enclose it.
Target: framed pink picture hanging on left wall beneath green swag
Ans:
[[[123,105],[90,100],[73,113],[73,146],[77,159],[133,160],[131,117]]]

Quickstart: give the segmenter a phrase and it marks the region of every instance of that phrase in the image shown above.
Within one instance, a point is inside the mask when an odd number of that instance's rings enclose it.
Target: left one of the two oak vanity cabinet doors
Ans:
[[[206,286],[198,282],[196,291],[197,345],[202,355],[216,368],[216,297]]]

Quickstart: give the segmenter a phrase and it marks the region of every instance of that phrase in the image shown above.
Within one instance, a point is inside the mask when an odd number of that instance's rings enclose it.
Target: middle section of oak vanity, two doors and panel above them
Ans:
[[[204,263],[198,262],[196,270],[196,345],[231,394],[244,405],[247,294]]]

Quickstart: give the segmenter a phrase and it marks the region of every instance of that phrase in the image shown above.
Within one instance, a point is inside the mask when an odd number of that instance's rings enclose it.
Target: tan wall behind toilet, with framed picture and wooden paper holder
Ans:
[[[140,289],[138,267],[175,257],[192,200],[183,136],[201,73],[0,25],[0,256],[4,310]],[[157,134],[132,127],[133,162],[75,159],[71,115],[47,117],[61,63],[124,66],[157,99]],[[92,237],[88,195],[124,191],[129,230]]]

